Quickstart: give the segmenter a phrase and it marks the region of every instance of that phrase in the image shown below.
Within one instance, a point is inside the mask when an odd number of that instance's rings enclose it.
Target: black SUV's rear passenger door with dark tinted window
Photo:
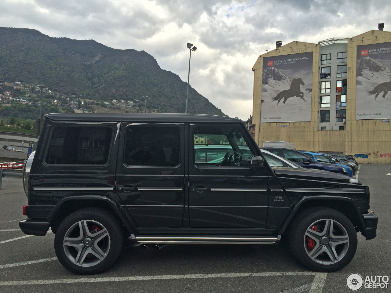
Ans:
[[[118,195],[138,227],[182,227],[185,125],[122,123]]]

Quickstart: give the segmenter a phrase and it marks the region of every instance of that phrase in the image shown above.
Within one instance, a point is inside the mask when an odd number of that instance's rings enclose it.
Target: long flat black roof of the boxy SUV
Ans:
[[[243,123],[226,116],[178,113],[51,113],[45,116],[52,121]]]

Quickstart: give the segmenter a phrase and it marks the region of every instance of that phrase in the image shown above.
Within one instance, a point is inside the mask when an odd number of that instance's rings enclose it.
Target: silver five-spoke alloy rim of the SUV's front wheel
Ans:
[[[315,229],[312,227],[315,226]],[[310,248],[308,241],[314,241]],[[346,229],[335,220],[322,219],[312,223],[304,234],[304,247],[308,256],[320,264],[334,264],[343,259],[349,248]]]

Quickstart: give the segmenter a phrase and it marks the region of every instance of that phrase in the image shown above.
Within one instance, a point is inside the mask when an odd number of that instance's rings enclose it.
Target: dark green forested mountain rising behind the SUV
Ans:
[[[52,38],[32,29],[0,27],[0,75],[6,82],[111,101],[149,96],[147,109],[184,113],[187,83],[144,51],[119,50],[93,40]],[[189,87],[188,113],[223,115]]]

